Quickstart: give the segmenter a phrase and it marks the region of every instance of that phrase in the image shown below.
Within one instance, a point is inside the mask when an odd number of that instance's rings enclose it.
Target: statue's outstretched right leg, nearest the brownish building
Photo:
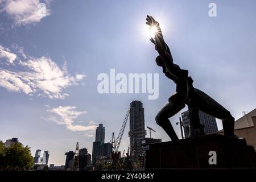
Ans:
[[[195,92],[197,95],[197,105],[199,109],[204,113],[212,115],[215,118],[221,119],[224,135],[228,137],[233,137],[234,118],[232,117],[230,112],[201,90],[195,88]]]

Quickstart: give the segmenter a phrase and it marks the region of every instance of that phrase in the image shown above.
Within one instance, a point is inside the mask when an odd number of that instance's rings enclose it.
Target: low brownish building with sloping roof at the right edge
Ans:
[[[224,135],[223,130],[218,131],[218,133]],[[235,121],[234,134],[245,138],[246,143],[256,150],[256,109]]]

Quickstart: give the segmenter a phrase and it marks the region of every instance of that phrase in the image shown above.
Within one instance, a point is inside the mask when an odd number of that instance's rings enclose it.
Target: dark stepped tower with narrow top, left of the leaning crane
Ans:
[[[97,159],[110,158],[112,152],[112,143],[105,142],[105,127],[102,123],[96,129],[95,142],[93,142],[92,163],[96,163]]]

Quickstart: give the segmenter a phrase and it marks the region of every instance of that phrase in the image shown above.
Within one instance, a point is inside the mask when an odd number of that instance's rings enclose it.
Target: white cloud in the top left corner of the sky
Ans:
[[[44,1],[48,5],[49,1]],[[16,25],[37,23],[50,14],[49,9],[38,6],[39,0],[3,0],[0,1],[1,11],[5,11]]]

